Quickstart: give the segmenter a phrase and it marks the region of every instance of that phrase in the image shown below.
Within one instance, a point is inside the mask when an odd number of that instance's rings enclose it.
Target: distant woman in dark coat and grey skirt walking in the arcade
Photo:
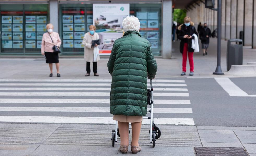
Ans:
[[[199,38],[201,39],[202,49],[204,54],[207,55],[207,48],[209,46],[209,37],[211,36],[211,30],[207,27],[207,23],[204,23],[204,27],[201,29]]]

